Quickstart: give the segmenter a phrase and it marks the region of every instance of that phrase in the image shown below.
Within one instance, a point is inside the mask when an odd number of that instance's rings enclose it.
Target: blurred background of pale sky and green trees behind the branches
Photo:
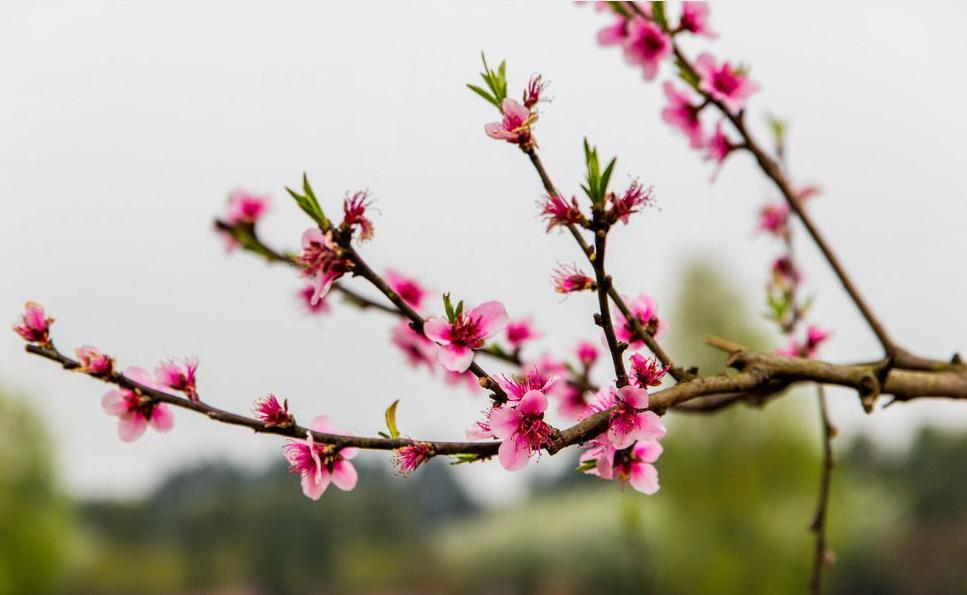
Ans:
[[[729,3],[713,6],[717,41],[687,43],[751,66],[754,127],[765,138],[768,114],[790,121],[792,171],[824,191],[816,219],[893,334],[938,357],[967,348],[965,16],[957,3]],[[405,432],[460,435],[480,395],[409,370],[378,315],[307,317],[291,271],[226,257],[210,225],[232,189],[270,193],[264,233],[293,247],[306,225],[284,185],[308,172],[330,208],[368,188],[377,267],[534,316],[533,357],[593,337],[592,300],[562,302],[548,280],[579,254],[544,234],[536,176],[483,135],[494,113],[464,87],[485,50],[508,59],[512,87],[551,81],[536,132],[558,186],[577,191],[583,136],[618,155],[617,183],[655,186],[661,210],[619,229],[609,260],[623,291],[659,300],[679,359],[720,365],[708,333],[777,345],[761,316],[775,246],[754,233],[769,183],[739,156],[710,184],[660,121],[659,86],[596,45],[608,22],[570,3],[2,4],[0,311],[39,301],[59,344],[124,365],[197,355],[200,389],[226,408],[274,392],[302,418],[373,433],[399,398]],[[875,357],[827,267],[799,252],[814,317],[835,333],[824,357]],[[377,454],[356,492],[311,503],[270,437],[178,413],[172,433],[122,444],[104,388],[25,357],[12,333],[0,383],[0,593],[806,584],[820,465],[808,390],[764,411],[669,416],[652,498],[575,477],[571,455],[516,474],[438,462],[404,481]],[[967,408],[866,416],[848,392],[830,401],[831,586],[963,592]]]

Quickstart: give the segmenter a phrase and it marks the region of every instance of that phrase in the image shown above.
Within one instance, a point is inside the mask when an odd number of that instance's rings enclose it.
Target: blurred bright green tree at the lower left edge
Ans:
[[[72,521],[43,424],[25,401],[0,394],[0,595],[57,589]]]

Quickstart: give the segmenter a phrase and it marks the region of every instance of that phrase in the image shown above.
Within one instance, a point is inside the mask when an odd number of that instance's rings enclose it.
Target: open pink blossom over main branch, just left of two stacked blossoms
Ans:
[[[554,429],[544,423],[547,397],[528,391],[516,405],[504,405],[490,416],[490,428],[501,440],[497,450],[500,465],[508,471],[527,466],[531,456],[550,441]]]

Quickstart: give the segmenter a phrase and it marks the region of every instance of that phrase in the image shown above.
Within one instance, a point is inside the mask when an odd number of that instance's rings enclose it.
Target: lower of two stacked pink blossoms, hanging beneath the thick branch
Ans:
[[[596,439],[581,455],[581,462],[594,461],[586,473],[601,479],[618,479],[622,484],[643,494],[658,491],[658,470],[652,464],[661,456],[661,444],[654,440],[640,441],[625,449],[616,449],[607,440]]]

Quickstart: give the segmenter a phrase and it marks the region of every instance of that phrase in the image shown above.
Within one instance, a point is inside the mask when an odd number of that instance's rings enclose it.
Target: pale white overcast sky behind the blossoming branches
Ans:
[[[823,186],[814,215],[873,308],[916,351],[967,351],[964,5],[713,8],[722,35],[709,47],[751,64],[760,132],[770,110],[792,120],[793,170]],[[483,135],[495,113],[464,88],[482,49],[508,59],[513,93],[534,71],[552,81],[537,134],[558,186],[578,190],[584,135],[619,155],[619,184],[654,184],[663,210],[619,229],[609,251],[619,288],[668,308],[677,267],[705,254],[760,303],[773,250],[752,229],[769,183],[745,156],[708,183],[660,121],[660,88],[595,45],[608,21],[551,3],[0,5],[0,312],[13,320],[40,301],[63,348],[91,343],[125,365],[196,354],[203,395],[226,408],[272,391],[303,420],[325,412],[372,433],[402,398],[404,431],[460,437],[482,400],[411,373],[383,317],[339,308],[307,321],[290,271],[226,259],[209,226],[229,190],[270,192],[266,236],[291,247],[306,223],[284,185],[308,171],[330,209],[366,187],[380,215],[363,253],[377,268],[539,314],[546,346],[593,336],[593,301],[561,303],[549,287],[554,264],[577,259],[572,242],[543,233],[527,160]],[[828,358],[876,356],[827,267],[800,252],[822,289],[816,318],[836,332]],[[122,444],[100,410],[104,386],[4,336],[0,379],[69,437],[58,459],[77,493],[140,493],[197,459],[280,456],[277,439],[186,412],[172,433]],[[887,442],[907,437],[912,418],[967,427],[967,407],[953,403],[867,418],[843,398],[834,413]],[[522,477],[496,464],[461,475],[494,498]]]

